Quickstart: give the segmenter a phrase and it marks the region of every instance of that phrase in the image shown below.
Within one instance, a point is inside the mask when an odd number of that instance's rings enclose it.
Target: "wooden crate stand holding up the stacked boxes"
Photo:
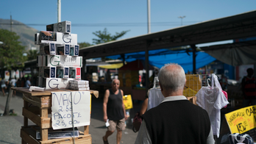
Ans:
[[[51,128],[51,118],[48,118],[48,114],[51,113],[51,92],[60,92],[62,90],[46,90],[44,92],[35,92],[35,91],[29,92],[28,88],[14,87],[12,89],[18,91],[19,93],[24,94],[23,96],[24,107],[22,110],[22,115],[24,116],[24,126],[21,129],[22,143],[30,143],[30,139],[35,139],[35,137],[32,137],[31,134],[29,134],[28,120],[32,120],[33,123],[35,123],[40,127],[40,134],[41,134],[41,140],[39,141],[40,143],[54,143],[54,142],[60,143],[58,141],[59,139],[54,139],[55,141],[48,140],[48,129]],[[75,91],[75,90],[71,90],[71,91]],[[96,96],[96,98],[99,97],[99,92],[96,90],[90,90],[90,94],[93,96]],[[84,143],[85,141],[88,141],[90,139],[88,143],[91,143],[89,126],[84,126],[83,134],[84,136],[81,136],[81,138],[77,138],[77,140],[81,141],[81,143],[82,142]],[[60,141],[61,143],[68,143],[65,140],[64,141],[60,140]],[[34,142],[38,143],[35,140],[32,141],[32,143]]]

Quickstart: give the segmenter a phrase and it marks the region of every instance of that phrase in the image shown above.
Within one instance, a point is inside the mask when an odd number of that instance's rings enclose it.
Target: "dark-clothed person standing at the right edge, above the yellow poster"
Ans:
[[[248,68],[247,76],[244,76],[241,82],[241,88],[243,91],[243,107],[256,105],[256,81],[253,73],[253,69]]]

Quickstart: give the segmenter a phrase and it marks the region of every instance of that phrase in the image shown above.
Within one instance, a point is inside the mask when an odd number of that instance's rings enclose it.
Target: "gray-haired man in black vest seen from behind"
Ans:
[[[142,115],[135,144],[215,143],[206,110],[182,96],[186,82],[183,68],[166,64],[160,69],[158,79],[165,98]]]

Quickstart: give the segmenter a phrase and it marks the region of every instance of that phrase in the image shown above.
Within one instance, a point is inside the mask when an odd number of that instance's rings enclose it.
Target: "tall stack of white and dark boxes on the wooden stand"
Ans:
[[[35,34],[35,44],[40,45],[38,87],[68,89],[69,81],[81,79],[82,57],[71,21],[47,25],[46,31]]]

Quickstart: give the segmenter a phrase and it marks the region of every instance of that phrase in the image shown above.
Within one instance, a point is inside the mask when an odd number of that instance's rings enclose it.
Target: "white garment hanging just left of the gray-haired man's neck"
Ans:
[[[165,98],[165,97],[161,93],[160,88],[154,87],[154,88],[150,89],[147,110],[149,110],[153,107],[157,107],[163,101],[163,98]]]

